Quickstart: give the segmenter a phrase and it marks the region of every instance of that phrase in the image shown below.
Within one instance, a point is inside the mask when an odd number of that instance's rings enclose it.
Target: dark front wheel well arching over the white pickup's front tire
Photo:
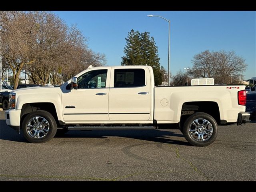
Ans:
[[[58,116],[57,116],[56,108],[55,108],[54,104],[44,102],[44,103],[26,103],[22,106],[21,114],[20,114],[20,128],[21,128],[21,125],[22,125],[22,122],[23,122],[24,118],[29,113],[34,112],[36,110],[44,110],[44,111],[49,112],[54,117],[57,126],[62,127],[59,124]]]

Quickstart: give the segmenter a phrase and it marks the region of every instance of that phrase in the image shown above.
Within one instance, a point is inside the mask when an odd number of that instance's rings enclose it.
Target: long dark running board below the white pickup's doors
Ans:
[[[154,130],[154,126],[72,126],[68,130]]]

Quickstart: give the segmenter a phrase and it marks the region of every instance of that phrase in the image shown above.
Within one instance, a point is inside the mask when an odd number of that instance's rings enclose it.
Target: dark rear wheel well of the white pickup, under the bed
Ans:
[[[180,122],[184,123],[186,119],[196,113],[204,112],[212,116],[218,124],[220,124],[220,109],[216,102],[202,101],[202,102],[186,102],[182,105]]]

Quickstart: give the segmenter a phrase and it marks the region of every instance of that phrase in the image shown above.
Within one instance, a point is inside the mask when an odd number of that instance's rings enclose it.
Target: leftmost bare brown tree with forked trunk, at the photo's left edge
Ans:
[[[13,72],[14,88],[17,88],[24,65],[36,61],[34,50],[35,22],[25,12],[1,11],[0,26],[2,54]]]

